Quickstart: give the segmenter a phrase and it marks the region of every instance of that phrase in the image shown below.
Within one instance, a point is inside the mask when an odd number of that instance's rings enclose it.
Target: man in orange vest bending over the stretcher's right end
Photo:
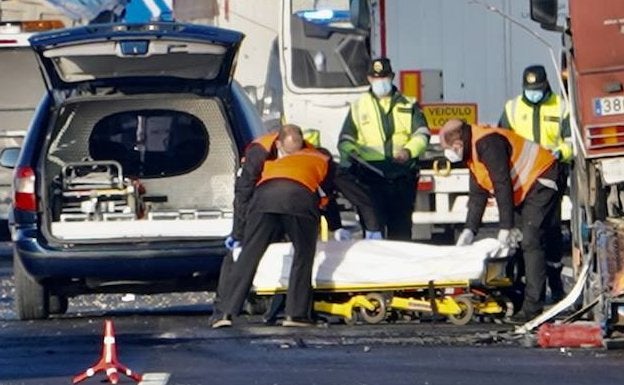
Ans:
[[[555,157],[510,130],[469,125],[457,119],[444,124],[440,144],[450,162],[464,161],[470,170],[468,215],[458,246],[473,242],[490,195],[498,206],[501,247],[512,247],[517,240],[514,214],[519,214],[526,288],[522,308],[511,321],[529,321],[544,307],[545,235],[555,220],[558,203]]]

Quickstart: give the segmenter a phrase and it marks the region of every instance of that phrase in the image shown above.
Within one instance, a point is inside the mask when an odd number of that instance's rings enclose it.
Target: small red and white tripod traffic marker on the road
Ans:
[[[113,329],[113,321],[104,321],[104,347],[102,348],[102,357],[92,367],[84,372],[74,376],[73,383],[77,384],[80,381],[86,380],[97,372],[104,372],[108,377],[111,384],[119,382],[119,372],[132,378],[134,381],[141,381],[141,374],[134,373],[122,365],[117,359],[117,348],[115,348],[115,330]]]

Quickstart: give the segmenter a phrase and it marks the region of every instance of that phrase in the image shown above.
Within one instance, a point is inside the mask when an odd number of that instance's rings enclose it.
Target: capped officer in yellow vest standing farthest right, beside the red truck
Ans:
[[[553,93],[546,69],[532,65],[522,74],[522,94],[508,100],[498,123],[518,135],[538,143],[559,161],[557,221],[548,230],[546,276],[551,301],[558,302],[564,295],[561,270],[563,264],[563,236],[561,233],[561,201],[567,187],[568,169],[572,161],[569,116],[562,98]]]

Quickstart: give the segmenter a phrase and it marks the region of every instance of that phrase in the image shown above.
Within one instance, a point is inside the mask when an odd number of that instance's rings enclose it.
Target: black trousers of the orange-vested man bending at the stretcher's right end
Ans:
[[[536,182],[519,207],[526,276],[522,309],[529,315],[544,308],[548,235],[559,222],[557,206],[560,206],[557,191]]]

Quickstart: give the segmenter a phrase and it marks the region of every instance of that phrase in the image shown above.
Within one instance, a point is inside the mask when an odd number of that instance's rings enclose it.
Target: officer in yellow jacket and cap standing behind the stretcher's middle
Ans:
[[[371,62],[371,88],[351,105],[338,138],[337,174],[370,194],[372,207],[361,205],[358,211],[364,227],[368,222],[379,228],[365,228],[366,238],[409,241],[418,157],[431,135],[420,106],[397,90],[393,78],[389,59]]]

